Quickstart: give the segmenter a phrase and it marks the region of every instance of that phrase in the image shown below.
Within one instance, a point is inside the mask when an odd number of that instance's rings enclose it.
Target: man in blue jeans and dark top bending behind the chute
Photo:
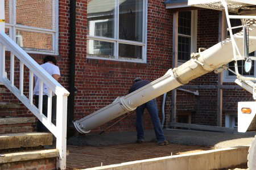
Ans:
[[[129,94],[139,88],[146,86],[149,84],[149,80],[142,80],[142,78],[135,78],[133,86],[131,86],[129,90]],[[161,128],[160,120],[158,117],[158,108],[156,106],[156,100],[152,99],[147,103],[144,103],[136,108],[136,130],[137,130],[137,143],[144,142],[144,126],[143,126],[143,113],[144,109],[147,108],[147,111],[150,113],[150,117],[154,126],[156,140],[158,141],[158,145],[168,145],[168,141],[164,138],[163,129]]]

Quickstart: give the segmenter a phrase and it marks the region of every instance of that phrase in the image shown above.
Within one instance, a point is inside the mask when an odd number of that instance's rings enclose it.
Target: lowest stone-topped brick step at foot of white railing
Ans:
[[[41,169],[56,169],[58,156],[59,151],[57,149],[1,154],[0,169],[37,169],[39,166],[42,166]]]

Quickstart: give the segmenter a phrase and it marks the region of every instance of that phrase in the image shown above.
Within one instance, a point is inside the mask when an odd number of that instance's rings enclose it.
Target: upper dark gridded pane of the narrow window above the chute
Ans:
[[[183,35],[191,35],[191,11],[179,12],[178,33]]]

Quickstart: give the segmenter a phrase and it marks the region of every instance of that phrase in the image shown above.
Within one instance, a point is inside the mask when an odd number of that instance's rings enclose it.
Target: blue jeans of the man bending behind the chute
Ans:
[[[137,107],[136,113],[136,130],[137,130],[137,139],[144,139],[144,126],[143,126],[143,112],[144,109],[147,108],[147,111],[150,113],[150,117],[154,126],[155,136],[159,142],[163,142],[165,140],[163,129],[161,128],[160,120],[158,117],[158,108],[156,107],[156,100],[150,100],[147,103],[144,103]]]

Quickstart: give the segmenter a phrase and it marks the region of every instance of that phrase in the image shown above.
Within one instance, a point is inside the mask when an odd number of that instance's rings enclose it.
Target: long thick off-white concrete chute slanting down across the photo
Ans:
[[[256,36],[256,25],[250,26],[250,36]],[[243,33],[234,35],[238,48],[242,50]],[[250,52],[256,50],[256,39],[250,39]],[[232,42],[230,39],[219,42],[211,48],[193,54],[192,59],[183,65],[170,69],[161,78],[147,84],[133,93],[118,97],[112,104],[100,109],[81,120],[75,121],[74,125],[80,133],[88,133],[90,130],[110,121],[116,117],[133,111],[139,105],[146,103],[164,93],[173,90],[189,81],[209,73],[233,60]]]

